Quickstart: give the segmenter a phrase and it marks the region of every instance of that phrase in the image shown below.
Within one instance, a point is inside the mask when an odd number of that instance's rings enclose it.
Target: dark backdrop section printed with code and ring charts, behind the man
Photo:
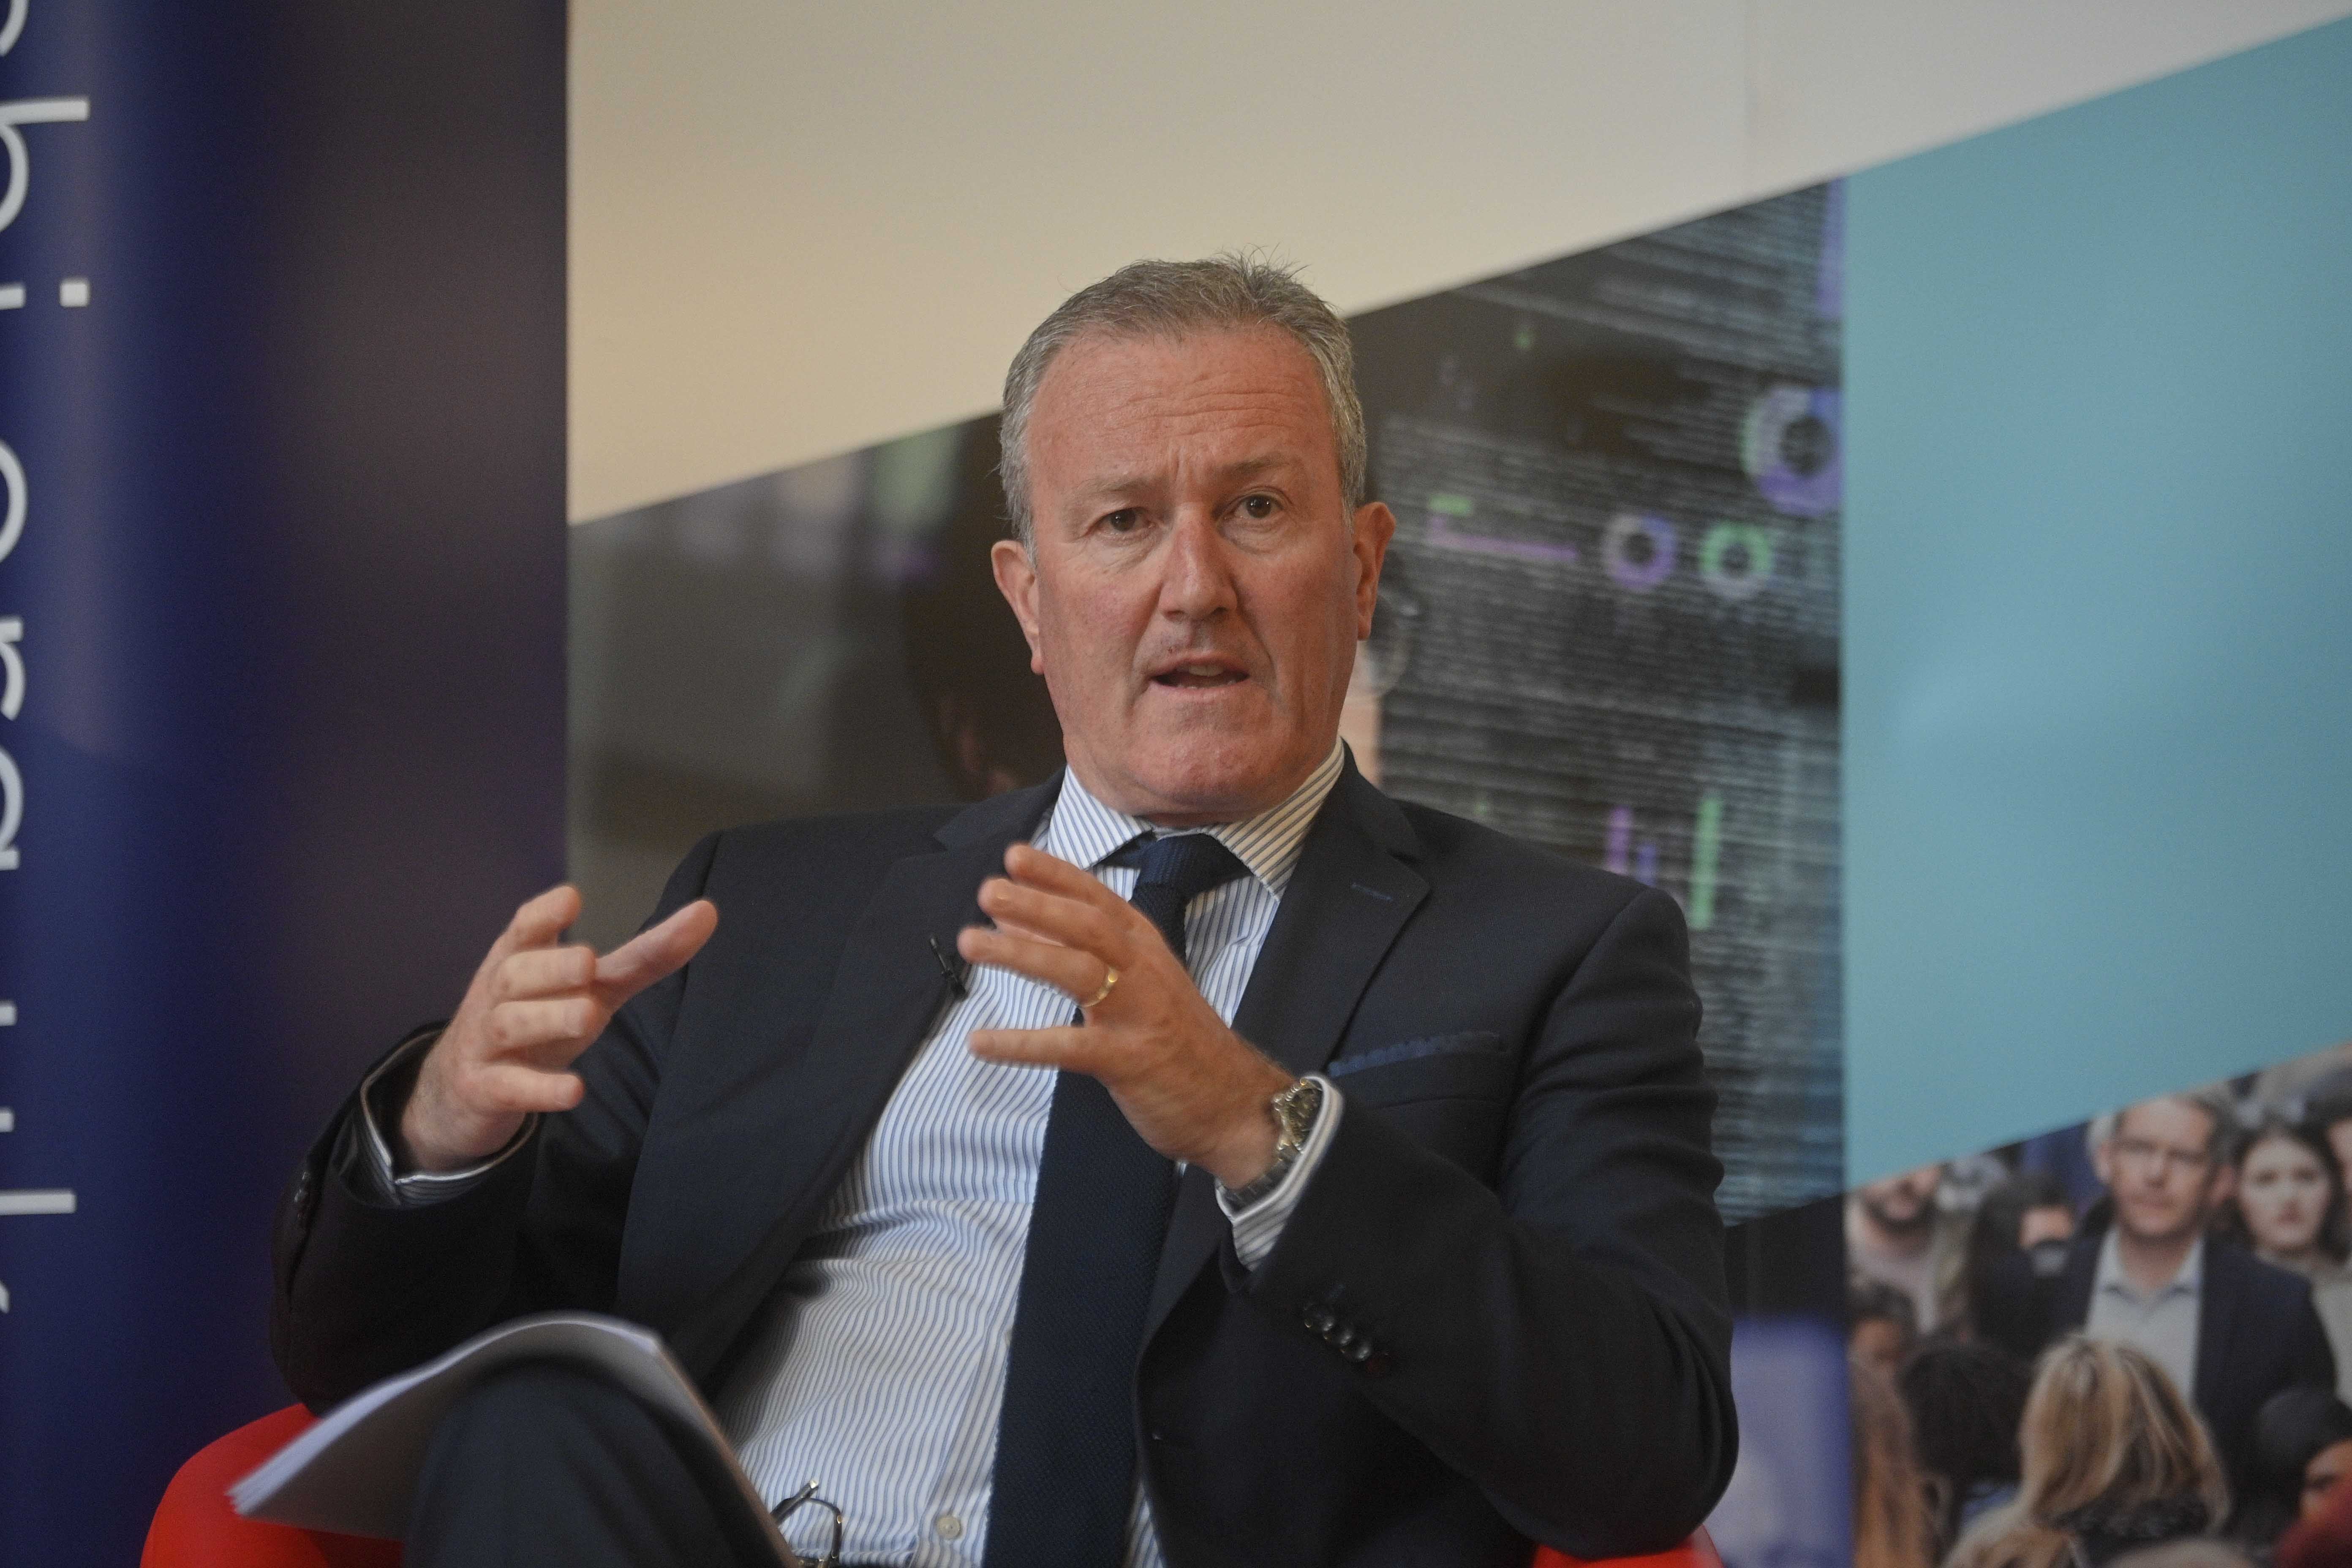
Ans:
[[[1682,900],[1724,1211],[1842,1185],[1839,188],[1355,322],[1399,520],[1348,738],[1388,790]],[[572,534],[572,875],[1061,764],[988,576],[995,418]]]

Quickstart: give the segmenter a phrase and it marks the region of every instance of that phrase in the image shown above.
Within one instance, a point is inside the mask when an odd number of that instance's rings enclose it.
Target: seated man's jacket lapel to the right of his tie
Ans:
[[[1308,830],[1232,1030],[1291,1072],[1331,1060],[1357,997],[1430,886],[1406,865],[1418,839],[1350,759]],[[1185,1171],[1152,1279],[1145,1338],[1230,1234],[1207,1171]]]

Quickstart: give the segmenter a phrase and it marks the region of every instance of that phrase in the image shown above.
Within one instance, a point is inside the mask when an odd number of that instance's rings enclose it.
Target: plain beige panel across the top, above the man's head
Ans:
[[[1073,287],[1265,244],[1345,310],[2352,0],[574,0],[572,515],[995,404]]]

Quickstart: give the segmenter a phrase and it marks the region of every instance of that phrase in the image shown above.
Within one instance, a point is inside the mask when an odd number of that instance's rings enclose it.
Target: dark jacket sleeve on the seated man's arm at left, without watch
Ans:
[[[654,922],[701,896],[717,837],[684,858]],[[649,922],[652,924],[652,922]],[[581,1053],[586,1098],[541,1117],[532,1147],[440,1204],[388,1204],[336,1159],[358,1095],[310,1147],[278,1208],[270,1349],[287,1387],[327,1408],[524,1312],[609,1309],[621,1222],[684,971],[649,985]]]

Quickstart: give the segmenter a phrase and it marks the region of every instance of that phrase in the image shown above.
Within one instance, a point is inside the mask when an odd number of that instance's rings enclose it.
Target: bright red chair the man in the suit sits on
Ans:
[[[179,1467],[148,1526],[139,1568],[400,1568],[400,1542],[367,1535],[329,1535],[282,1523],[242,1519],[228,1507],[228,1486],[294,1441],[310,1413],[287,1406],[202,1448]],[[1550,1547],[1536,1549],[1531,1568],[1602,1568]],[[1606,1568],[1724,1568],[1700,1530],[1672,1552],[1616,1556]]]

